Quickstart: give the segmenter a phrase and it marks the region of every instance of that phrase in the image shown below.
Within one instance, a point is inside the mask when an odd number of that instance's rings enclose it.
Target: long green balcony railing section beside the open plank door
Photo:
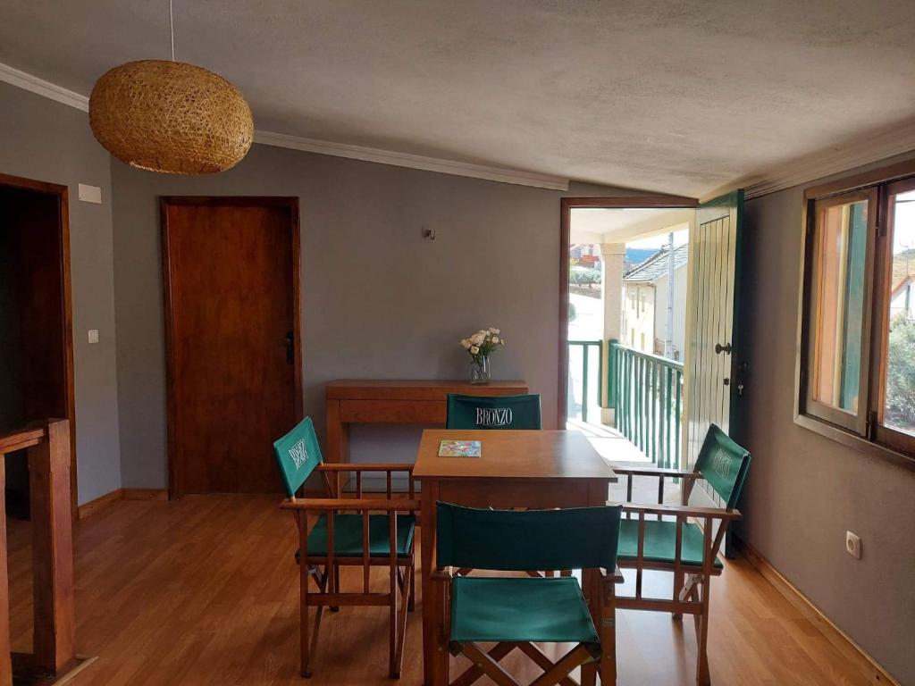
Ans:
[[[608,404],[617,430],[655,465],[680,468],[683,364],[609,344]]]

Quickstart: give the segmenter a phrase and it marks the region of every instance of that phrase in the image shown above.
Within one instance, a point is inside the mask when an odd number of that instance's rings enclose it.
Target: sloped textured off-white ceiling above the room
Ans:
[[[701,197],[915,121],[911,0],[174,0],[259,130]],[[0,62],[88,95],[167,0],[3,0]]]

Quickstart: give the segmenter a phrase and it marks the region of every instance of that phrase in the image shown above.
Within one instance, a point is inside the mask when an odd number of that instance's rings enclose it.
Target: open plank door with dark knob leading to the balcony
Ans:
[[[733,434],[742,390],[736,338],[742,214],[743,190],[700,204],[690,235],[684,362],[684,455],[690,469],[709,424]],[[705,496],[721,505],[714,491]]]

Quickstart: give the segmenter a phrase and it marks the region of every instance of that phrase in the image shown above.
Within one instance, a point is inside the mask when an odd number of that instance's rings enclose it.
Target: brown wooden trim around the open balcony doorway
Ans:
[[[568,319],[569,319],[569,238],[572,232],[572,210],[576,208],[651,208],[694,209],[699,201],[683,196],[642,195],[620,198],[562,198],[559,229],[559,370],[556,400],[557,428],[564,429],[568,392]]]

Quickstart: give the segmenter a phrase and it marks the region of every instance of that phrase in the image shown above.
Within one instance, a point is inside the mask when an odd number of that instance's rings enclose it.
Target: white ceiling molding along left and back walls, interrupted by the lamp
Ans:
[[[39,79],[26,71],[17,70],[8,64],[0,62],[0,81],[41,95],[56,102],[74,107],[82,112],[89,112],[89,98],[78,92],[70,91],[56,83]],[[319,155],[333,155],[335,157],[348,157],[364,162],[377,162],[382,165],[406,166],[412,169],[451,174],[458,177],[482,178],[488,181],[515,184],[518,186],[531,186],[533,188],[549,188],[550,190],[568,190],[567,178],[550,177],[543,174],[534,174],[516,169],[505,169],[499,166],[474,165],[467,162],[425,157],[423,155],[409,155],[395,153],[377,148],[362,147],[360,145],[345,145],[331,141],[319,141],[313,138],[301,138],[295,135],[274,134],[269,131],[255,131],[254,143],[261,145],[274,145],[292,150],[304,150]]]

